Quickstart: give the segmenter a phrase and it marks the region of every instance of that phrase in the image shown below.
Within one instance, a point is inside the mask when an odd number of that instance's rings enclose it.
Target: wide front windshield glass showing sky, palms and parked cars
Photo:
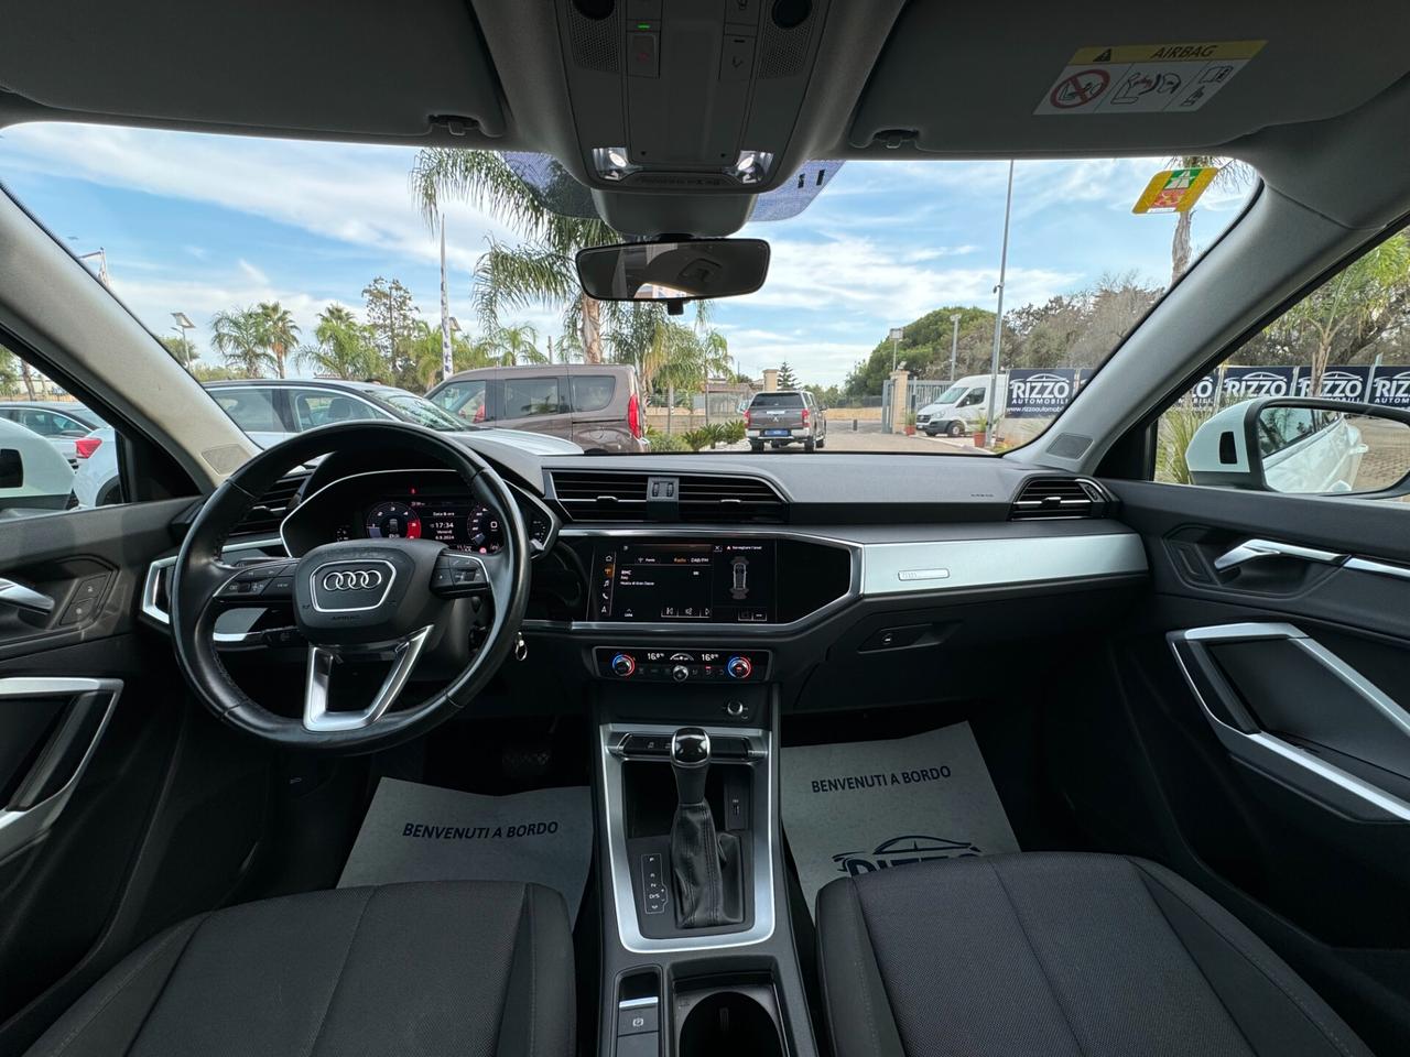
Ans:
[[[457,158],[31,124],[0,179],[202,381],[376,381],[434,428],[592,452],[819,457],[1031,441],[1256,185],[1215,158],[814,161],[739,233],[770,242],[763,288],[670,316],[577,290],[574,251],[619,237],[574,214],[567,252],[543,241],[515,173],[556,163]],[[807,416],[763,414],[802,390]]]

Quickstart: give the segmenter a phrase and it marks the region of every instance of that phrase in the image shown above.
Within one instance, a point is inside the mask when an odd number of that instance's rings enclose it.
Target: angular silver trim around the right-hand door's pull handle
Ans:
[[[1410,737],[1410,715],[1382,693],[1355,668],[1293,624],[1217,624],[1213,627],[1194,627],[1182,631],[1177,637],[1190,644],[1286,638],[1317,658],[1320,664],[1327,667],[1337,678],[1363,698],[1371,707],[1383,713],[1396,726],[1404,729],[1406,736]],[[1210,709],[1208,702],[1204,700],[1204,695],[1200,693],[1200,688],[1190,675],[1190,669],[1180,651],[1175,648],[1175,643],[1172,643],[1172,651],[1175,653],[1175,661],[1180,667],[1180,672],[1184,675],[1186,684],[1190,686],[1190,692],[1204,712],[1204,719],[1214,729],[1214,734],[1220,743],[1234,757],[1286,782],[1294,789],[1307,789],[1316,793],[1321,802],[1349,817],[1365,819],[1368,822],[1410,823],[1410,803],[1399,796],[1275,734],[1265,730],[1239,730],[1221,720]]]

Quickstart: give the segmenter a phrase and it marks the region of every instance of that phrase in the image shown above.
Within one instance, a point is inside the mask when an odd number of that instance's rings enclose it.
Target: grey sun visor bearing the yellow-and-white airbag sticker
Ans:
[[[943,155],[1180,154],[1347,113],[1410,70],[1410,3],[914,0],[849,142]]]

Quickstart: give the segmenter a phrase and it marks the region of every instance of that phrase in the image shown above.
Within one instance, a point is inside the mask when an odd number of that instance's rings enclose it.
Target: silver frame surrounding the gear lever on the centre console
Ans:
[[[627,734],[674,734],[674,724],[658,723],[605,723],[598,727],[602,755],[602,799],[606,813],[608,858],[612,878],[612,903],[616,909],[618,937],[622,946],[634,954],[661,954],[675,951],[709,951],[749,947],[764,943],[774,934],[774,855],[771,834],[778,824],[778,808],[774,803],[777,782],[777,754],[773,751],[773,736],[767,730],[705,727],[709,737],[742,737],[749,743],[749,758],[742,765],[754,771],[754,803],[764,793],[763,820],[754,812],[753,836],[753,899],[754,923],[747,929],[708,936],[671,936],[654,939],[642,934],[636,916],[636,896],[632,889],[632,863],[626,851],[626,805],[623,803],[622,764],[619,746]],[[670,767],[663,760],[660,767]]]

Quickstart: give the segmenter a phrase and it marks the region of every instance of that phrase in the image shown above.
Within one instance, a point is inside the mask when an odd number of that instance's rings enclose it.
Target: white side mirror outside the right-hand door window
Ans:
[[[1263,397],[1215,413],[1184,450],[1190,483],[1289,495],[1410,492],[1410,413]]]

